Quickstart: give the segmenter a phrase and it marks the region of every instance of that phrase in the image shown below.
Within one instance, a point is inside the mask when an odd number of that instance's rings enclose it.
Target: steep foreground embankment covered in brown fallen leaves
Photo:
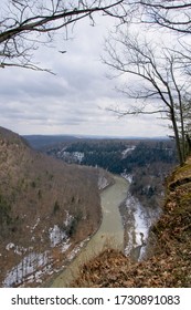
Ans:
[[[84,265],[73,287],[191,287],[191,158],[167,180],[163,214],[150,232],[147,259],[106,250]]]

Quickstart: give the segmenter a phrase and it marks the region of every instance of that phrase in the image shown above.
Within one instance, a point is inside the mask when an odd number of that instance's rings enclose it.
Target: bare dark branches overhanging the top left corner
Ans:
[[[0,68],[22,66],[40,70],[33,52],[40,44],[52,42],[62,30],[81,19],[102,12],[125,18],[124,0],[2,0],[0,9]],[[62,51],[64,52],[64,51]]]

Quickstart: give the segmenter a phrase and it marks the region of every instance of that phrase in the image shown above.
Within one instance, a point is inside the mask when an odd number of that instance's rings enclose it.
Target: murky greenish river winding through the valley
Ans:
[[[97,232],[92,237],[77,257],[52,282],[53,288],[64,288],[76,278],[81,265],[98,255],[105,248],[124,250],[124,227],[119,214],[119,205],[126,199],[129,183],[114,176],[115,184],[100,194],[103,220]]]

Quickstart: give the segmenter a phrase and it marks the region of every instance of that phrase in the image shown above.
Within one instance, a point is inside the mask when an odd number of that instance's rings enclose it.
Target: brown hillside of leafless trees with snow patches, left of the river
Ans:
[[[39,286],[100,219],[96,169],[67,165],[0,127],[0,286]],[[6,261],[6,264],[4,264]]]

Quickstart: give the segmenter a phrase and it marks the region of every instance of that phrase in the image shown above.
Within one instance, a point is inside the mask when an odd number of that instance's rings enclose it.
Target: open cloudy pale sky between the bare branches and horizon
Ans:
[[[100,61],[113,21],[96,17],[95,22],[79,21],[71,40],[57,38],[54,46],[36,51],[34,59],[55,75],[0,69],[1,126],[21,135],[167,136],[163,121],[153,115],[119,118],[108,111],[128,106],[129,99],[116,92],[116,80]]]

